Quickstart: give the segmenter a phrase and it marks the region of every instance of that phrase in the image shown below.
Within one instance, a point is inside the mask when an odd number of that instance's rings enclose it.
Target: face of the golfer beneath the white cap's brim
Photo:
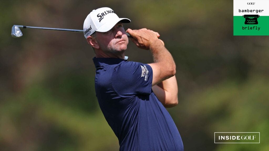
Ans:
[[[105,33],[96,32],[96,41],[102,51],[107,53],[122,53],[129,42],[121,22]]]

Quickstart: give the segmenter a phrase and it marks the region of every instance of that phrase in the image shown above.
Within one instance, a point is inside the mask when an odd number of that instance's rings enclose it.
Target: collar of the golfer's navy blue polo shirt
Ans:
[[[100,66],[107,66],[107,65],[112,65],[112,64],[119,64],[122,61],[127,61],[128,56],[125,56],[124,59],[119,59],[119,58],[93,58],[93,62],[95,67],[100,67]]]

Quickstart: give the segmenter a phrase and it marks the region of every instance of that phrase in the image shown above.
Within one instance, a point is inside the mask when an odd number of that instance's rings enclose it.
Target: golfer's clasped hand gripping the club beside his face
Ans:
[[[139,30],[128,29],[126,30],[126,33],[129,33],[133,37],[130,38],[130,40],[141,49],[148,50],[154,45],[164,45],[164,42],[161,39],[158,39],[160,37],[159,33],[146,28]]]

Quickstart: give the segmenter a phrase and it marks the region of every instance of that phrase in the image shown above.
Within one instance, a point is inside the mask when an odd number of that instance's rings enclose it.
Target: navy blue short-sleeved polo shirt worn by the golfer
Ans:
[[[95,92],[119,150],[183,150],[178,129],[151,89],[148,64],[118,58],[93,58]]]

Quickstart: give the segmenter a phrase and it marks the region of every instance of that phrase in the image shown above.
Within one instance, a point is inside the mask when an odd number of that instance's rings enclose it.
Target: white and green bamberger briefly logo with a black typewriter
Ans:
[[[269,35],[269,0],[234,0],[233,35]]]

